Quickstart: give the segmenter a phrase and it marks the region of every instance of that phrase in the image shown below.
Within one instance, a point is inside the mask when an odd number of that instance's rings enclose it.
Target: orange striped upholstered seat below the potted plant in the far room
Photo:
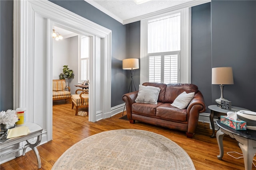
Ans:
[[[52,80],[52,100],[64,99],[71,99],[70,87],[66,86],[66,80]]]

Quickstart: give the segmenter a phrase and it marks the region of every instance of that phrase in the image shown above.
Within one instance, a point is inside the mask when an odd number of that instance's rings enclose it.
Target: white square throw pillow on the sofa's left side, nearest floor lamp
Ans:
[[[138,96],[135,102],[157,104],[159,92],[159,87],[140,85]]]

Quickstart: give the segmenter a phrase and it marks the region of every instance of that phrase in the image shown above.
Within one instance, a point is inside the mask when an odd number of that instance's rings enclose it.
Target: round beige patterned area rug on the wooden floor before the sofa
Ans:
[[[98,133],[74,144],[52,170],[195,170],[188,154],[170,139],[144,130]]]

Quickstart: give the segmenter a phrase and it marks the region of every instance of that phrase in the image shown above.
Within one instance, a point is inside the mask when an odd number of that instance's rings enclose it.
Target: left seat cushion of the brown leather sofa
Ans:
[[[135,113],[138,115],[155,116],[156,108],[161,104],[162,103],[160,102],[158,102],[158,104],[133,103],[132,113]]]

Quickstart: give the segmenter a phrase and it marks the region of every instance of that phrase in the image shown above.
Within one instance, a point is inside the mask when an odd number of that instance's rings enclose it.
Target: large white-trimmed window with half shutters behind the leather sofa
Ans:
[[[141,21],[140,83],[190,83],[189,8]]]

